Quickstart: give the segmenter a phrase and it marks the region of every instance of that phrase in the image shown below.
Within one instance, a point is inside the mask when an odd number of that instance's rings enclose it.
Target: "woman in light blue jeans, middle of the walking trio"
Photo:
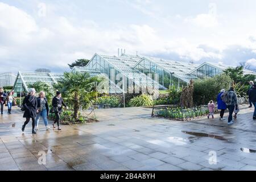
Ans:
[[[46,93],[41,91],[40,96],[38,97],[38,110],[36,115],[36,130],[38,130],[38,123],[40,117],[43,118],[44,125],[46,126],[46,130],[49,130],[51,127],[48,126],[47,116],[49,114],[49,105],[46,99]]]

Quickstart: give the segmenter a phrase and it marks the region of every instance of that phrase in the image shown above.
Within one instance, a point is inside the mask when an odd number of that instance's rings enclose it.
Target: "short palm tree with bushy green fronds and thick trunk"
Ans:
[[[78,119],[79,107],[82,102],[90,101],[89,97],[95,96],[97,77],[90,77],[86,72],[65,72],[64,77],[59,81],[61,90],[67,92],[69,98],[73,97],[73,118]],[[83,103],[84,104],[84,103]]]

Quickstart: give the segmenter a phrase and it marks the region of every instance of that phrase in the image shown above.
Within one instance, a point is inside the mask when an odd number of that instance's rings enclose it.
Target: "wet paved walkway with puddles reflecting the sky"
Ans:
[[[36,135],[31,123],[22,133],[16,109],[0,116],[0,170],[256,170],[253,109],[232,126],[217,115],[178,122],[151,118],[151,109],[101,109],[101,122],[46,131],[40,121]]]

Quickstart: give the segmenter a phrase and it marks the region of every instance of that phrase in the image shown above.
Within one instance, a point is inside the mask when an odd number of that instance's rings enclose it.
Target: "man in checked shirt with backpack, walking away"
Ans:
[[[234,92],[233,87],[230,87],[230,89],[228,90],[227,96],[228,96],[227,107],[229,109],[228,125],[232,125],[234,123],[233,117],[232,117],[234,109],[238,109],[237,94]]]

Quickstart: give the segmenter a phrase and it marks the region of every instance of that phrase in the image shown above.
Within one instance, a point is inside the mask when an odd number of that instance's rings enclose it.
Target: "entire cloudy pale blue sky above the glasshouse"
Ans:
[[[254,0],[0,0],[0,72],[61,72],[118,48],[256,68],[255,7]]]

